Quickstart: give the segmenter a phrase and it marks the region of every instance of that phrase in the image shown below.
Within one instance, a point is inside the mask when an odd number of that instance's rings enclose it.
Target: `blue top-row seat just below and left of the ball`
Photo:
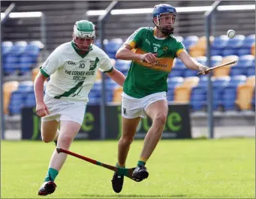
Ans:
[[[215,37],[211,45],[211,56],[221,55],[222,50],[227,46],[227,41],[229,37],[227,35],[221,35],[219,37]]]

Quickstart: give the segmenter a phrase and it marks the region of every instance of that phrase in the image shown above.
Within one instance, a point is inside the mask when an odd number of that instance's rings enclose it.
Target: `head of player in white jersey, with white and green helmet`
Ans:
[[[96,37],[95,25],[87,20],[77,21],[74,25],[73,41],[77,49],[89,51]]]

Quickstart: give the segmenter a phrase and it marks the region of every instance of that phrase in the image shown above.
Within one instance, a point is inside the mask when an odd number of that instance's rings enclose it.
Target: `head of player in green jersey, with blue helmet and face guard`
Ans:
[[[153,9],[153,22],[165,35],[173,34],[176,25],[176,8],[170,4],[158,4]]]

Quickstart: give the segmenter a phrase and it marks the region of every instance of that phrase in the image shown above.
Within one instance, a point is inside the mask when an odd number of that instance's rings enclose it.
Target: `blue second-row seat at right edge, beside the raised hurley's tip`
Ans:
[[[242,55],[239,57],[237,63],[231,67],[230,76],[246,75],[248,67],[253,65],[254,61],[255,58],[253,55]]]

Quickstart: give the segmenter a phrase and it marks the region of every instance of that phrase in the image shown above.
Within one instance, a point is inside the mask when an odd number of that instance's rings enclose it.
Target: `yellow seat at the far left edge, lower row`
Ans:
[[[17,91],[19,87],[19,82],[17,81],[11,81],[11,82],[5,82],[3,85],[3,90],[4,90],[4,113],[9,114],[8,106],[10,104],[11,100],[11,94],[14,91]]]

